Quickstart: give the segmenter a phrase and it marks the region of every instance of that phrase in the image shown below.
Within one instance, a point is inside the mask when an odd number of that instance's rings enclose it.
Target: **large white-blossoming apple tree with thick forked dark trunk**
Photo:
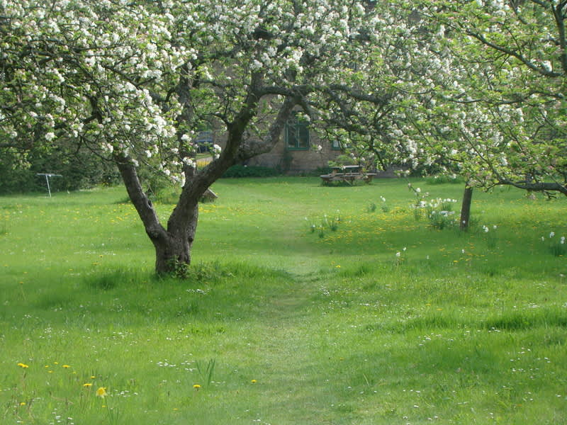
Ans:
[[[64,140],[116,162],[156,271],[168,272],[191,261],[199,198],[268,151],[293,108],[368,96],[337,71],[380,26],[372,2],[357,0],[0,0],[0,148]],[[203,126],[225,142],[196,169]],[[144,166],[182,185],[167,223],[143,190]]]

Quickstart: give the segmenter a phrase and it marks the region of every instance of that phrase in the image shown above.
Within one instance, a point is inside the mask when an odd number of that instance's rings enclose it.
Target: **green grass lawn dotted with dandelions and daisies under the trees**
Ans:
[[[462,233],[398,179],[213,190],[185,280],[124,188],[0,197],[1,424],[567,423],[565,198]]]

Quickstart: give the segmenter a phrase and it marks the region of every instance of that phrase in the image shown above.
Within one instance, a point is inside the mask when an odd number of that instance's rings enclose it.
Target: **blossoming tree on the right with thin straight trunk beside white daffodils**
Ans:
[[[473,187],[567,195],[567,2],[390,4],[397,14],[383,20],[395,23],[381,37],[395,48],[377,50],[360,84],[390,81],[381,93],[391,98],[341,100],[327,113],[357,133],[352,149],[464,176],[465,226]]]

